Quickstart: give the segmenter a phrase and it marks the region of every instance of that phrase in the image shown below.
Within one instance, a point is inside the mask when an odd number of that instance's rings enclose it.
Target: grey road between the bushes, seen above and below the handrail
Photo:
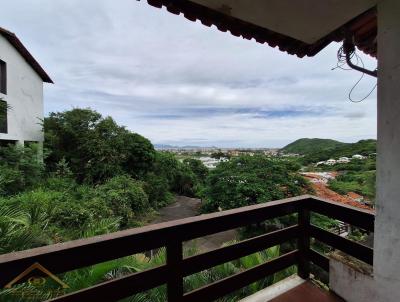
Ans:
[[[196,216],[199,214],[200,205],[200,199],[177,196],[173,204],[159,211],[159,216],[152,224]],[[206,252],[221,247],[225,242],[234,240],[236,235],[236,230],[229,230],[185,242],[185,246],[191,247],[194,245],[200,252]]]

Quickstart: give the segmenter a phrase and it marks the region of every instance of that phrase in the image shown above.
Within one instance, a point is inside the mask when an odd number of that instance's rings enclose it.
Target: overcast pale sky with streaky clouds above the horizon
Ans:
[[[281,147],[301,137],[376,137],[376,91],[348,100],[360,73],[332,70],[339,44],[298,59],[143,0],[1,2],[0,26],[55,82],[45,85],[46,114],[90,107],[157,144]],[[354,99],[375,83],[366,76]]]

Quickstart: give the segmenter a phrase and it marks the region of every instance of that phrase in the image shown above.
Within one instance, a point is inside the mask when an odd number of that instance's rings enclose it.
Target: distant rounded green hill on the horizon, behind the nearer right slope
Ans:
[[[345,145],[347,144],[333,139],[301,138],[282,148],[281,152],[307,155],[324,150],[332,150]]]

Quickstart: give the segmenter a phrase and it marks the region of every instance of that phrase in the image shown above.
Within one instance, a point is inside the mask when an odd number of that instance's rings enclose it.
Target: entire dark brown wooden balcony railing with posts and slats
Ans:
[[[163,246],[167,252],[165,265],[107,281],[52,301],[117,301],[167,284],[168,301],[205,302],[292,265],[298,266],[299,276],[308,278],[310,262],[329,270],[328,258],[310,248],[310,238],[372,264],[371,248],[310,224],[310,212],[367,231],[374,229],[373,213],[306,195],[0,255],[0,286],[36,262],[57,274]],[[298,214],[298,224],[294,226],[183,258],[184,241],[293,213]],[[297,249],[291,252],[191,292],[183,292],[185,276],[293,239],[297,240]]]

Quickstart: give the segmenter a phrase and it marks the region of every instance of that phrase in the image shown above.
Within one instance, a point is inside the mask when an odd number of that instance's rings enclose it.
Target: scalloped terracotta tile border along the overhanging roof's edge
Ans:
[[[165,6],[170,13],[176,15],[183,14],[190,21],[195,22],[196,20],[200,20],[203,25],[208,27],[214,25],[220,31],[229,31],[237,37],[241,36],[248,40],[254,39],[263,44],[267,43],[271,47],[278,47],[279,50],[291,55],[297,55],[300,58],[314,56],[331,42],[342,41],[346,30],[350,30],[353,33],[356,46],[363,52],[376,57],[376,8],[370,9],[354,18],[314,44],[307,44],[188,0],[147,0],[147,2],[158,8]]]

